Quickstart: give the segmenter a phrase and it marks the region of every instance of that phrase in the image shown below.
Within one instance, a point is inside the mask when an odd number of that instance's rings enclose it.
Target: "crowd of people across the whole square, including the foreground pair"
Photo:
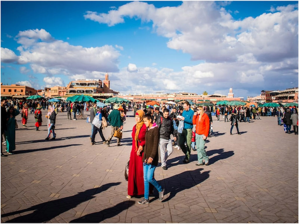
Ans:
[[[167,159],[173,153],[173,148],[181,150],[184,154],[184,163],[190,162],[191,150],[197,151],[197,163],[195,165],[209,165],[205,142],[213,134],[213,117],[217,122],[221,118],[225,122],[231,122],[230,134],[234,127],[237,134],[241,134],[238,122],[248,122],[252,119],[261,119],[260,116],[276,116],[277,125],[284,125],[286,133],[291,133],[293,126],[295,135],[298,134],[298,109],[292,108],[255,108],[244,106],[196,106],[185,101],[183,105],[163,105],[161,108],[147,106],[145,104],[111,104],[102,108],[96,103],[53,103],[41,100],[13,102],[1,99],[1,142],[5,139],[6,152],[13,154],[16,139],[16,119],[21,111],[22,127],[26,127],[28,115],[34,114],[36,131],[42,125],[42,110],[47,110],[48,135],[46,140],[56,138],[56,115],[60,111],[67,111],[68,119],[76,120],[76,115],[83,115],[83,111],[89,112],[88,122],[91,124],[91,145],[95,145],[95,136],[99,133],[102,143],[110,146],[111,139],[117,138],[117,146],[120,146],[121,137],[115,135],[121,132],[123,122],[126,119],[126,111],[133,111],[136,124],[132,128],[132,150],[129,161],[128,195],[127,198],[144,195],[139,204],[149,203],[149,194],[156,188],[159,200],[163,199],[164,188],[155,180],[154,171],[158,166],[160,150],[161,168],[167,170]],[[230,118],[228,118],[230,115]],[[103,135],[102,129],[108,123],[111,132],[108,138]],[[194,131],[193,131],[194,130]],[[52,138],[51,138],[52,133]],[[171,138],[173,136],[173,139]],[[174,147],[173,147],[174,146]],[[6,156],[2,153],[1,156]]]

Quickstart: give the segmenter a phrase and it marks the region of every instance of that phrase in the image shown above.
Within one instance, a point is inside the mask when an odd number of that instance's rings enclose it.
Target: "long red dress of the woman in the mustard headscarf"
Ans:
[[[145,145],[145,132],[146,126],[142,125],[139,131],[138,139],[141,142],[138,142],[139,145]],[[136,133],[136,125],[133,127],[132,131],[132,150],[130,154],[130,163],[129,163],[129,174],[128,174],[128,195],[136,196],[144,194],[144,180],[143,180],[143,162],[142,156],[143,152],[140,156],[137,156],[137,150],[135,152],[135,133]]]

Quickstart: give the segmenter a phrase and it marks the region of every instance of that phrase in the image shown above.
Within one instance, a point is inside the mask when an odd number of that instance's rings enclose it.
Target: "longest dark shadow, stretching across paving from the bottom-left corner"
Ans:
[[[104,184],[98,188],[92,188],[83,192],[79,192],[74,196],[44,202],[39,205],[33,205],[30,208],[2,214],[1,217],[7,217],[15,214],[20,214],[26,211],[36,210],[30,214],[8,220],[7,223],[43,223],[53,219],[54,217],[58,216],[59,214],[62,214],[65,211],[70,210],[71,208],[75,208],[82,202],[94,198],[93,195],[98,194],[102,191],[106,191],[110,187],[119,184],[120,182]]]

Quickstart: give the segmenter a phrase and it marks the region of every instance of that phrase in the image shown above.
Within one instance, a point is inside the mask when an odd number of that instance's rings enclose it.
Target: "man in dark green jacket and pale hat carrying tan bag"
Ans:
[[[118,108],[119,108],[119,106],[117,104],[114,104],[114,106],[113,106],[114,110],[111,111],[111,113],[108,116],[108,120],[109,120],[110,125],[111,125],[111,134],[110,134],[108,140],[105,143],[108,146],[110,146],[109,142],[111,141],[111,139],[114,135],[114,132],[116,130],[118,130],[118,128],[120,128],[120,130],[123,129],[123,121],[121,119],[120,112],[118,111]],[[117,138],[117,146],[120,146],[120,139],[119,138]]]

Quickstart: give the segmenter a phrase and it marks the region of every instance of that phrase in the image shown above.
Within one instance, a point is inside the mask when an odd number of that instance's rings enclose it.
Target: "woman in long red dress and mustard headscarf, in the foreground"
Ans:
[[[143,162],[142,155],[137,155],[138,148],[143,148],[145,144],[146,126],[143,122],[144,111],[138,110],[135,113],[136,125],[132,130],[132,150],[130,154],[129,174],[128,174],[128,196],[143,195],[144,194],[144,180],[143,180]]]

